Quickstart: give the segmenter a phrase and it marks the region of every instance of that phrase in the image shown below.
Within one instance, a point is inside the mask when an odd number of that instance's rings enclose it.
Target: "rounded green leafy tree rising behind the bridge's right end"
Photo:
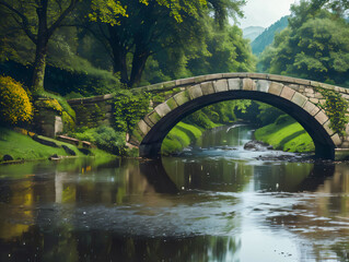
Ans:
[[[345,85],[349,81],[348,23],[325,9],[310,9],[307,1],[292,7],[289,27],[261,53],[258,68]]]

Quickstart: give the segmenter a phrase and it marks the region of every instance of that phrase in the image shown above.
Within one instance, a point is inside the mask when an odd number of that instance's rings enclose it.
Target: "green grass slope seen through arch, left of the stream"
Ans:
[[[196,126],[178,122],[164,139],[161,147],[163,155],[182,151],[202,134],[202,130]]]

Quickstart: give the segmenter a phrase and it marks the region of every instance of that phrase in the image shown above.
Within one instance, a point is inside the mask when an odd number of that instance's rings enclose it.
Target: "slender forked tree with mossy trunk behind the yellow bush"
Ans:
[[[32,90],[44,90],[48,40],[79,0],[0,0],[12,19],[35,45]]]

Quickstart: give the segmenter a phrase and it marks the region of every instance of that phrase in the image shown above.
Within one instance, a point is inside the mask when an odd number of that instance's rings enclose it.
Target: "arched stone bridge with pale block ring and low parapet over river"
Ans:
[[[318,87],[338,92],[349,100],[349,90],[315,81],[259,73],[210,74],[150,86],[136,91],[163,94],[164,100],[140,120],[129,138],[142,157],[160,155],[161,144],[171,129],[186,116],[214,103],[253,99],[275,106],[293,117],[312,136],[315,155],[334,159],[349,152],[349,126],[346,135],[335,133],[330,119],[319,105],[325,102]],[[110,99],[110,95],[74,99],[70,105]],[[108,106],[112,110],[112,108]],[[79,112],[77,112],[79,116]]]

